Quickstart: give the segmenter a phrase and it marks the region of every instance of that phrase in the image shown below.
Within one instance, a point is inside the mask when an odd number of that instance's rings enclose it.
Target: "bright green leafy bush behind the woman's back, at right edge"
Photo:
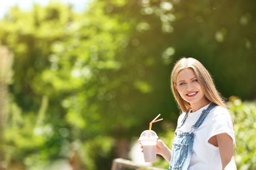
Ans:
[[[236,135],[236,163],[242,170],[256,169],[256,101],[234,99],[230,110]]]

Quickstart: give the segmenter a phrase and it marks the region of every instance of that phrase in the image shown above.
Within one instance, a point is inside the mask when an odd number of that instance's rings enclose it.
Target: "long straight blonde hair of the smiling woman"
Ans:
[[[177,86],[177,75],[182,71],[182,69],[192,69],[200,86],[202,86],[205,97],[216,105],[228,109],[221,93],[217,91],[209,71],[205,69],[202,63],[194,58],[181,58],[177,63],[175,63],[173,71],[171,72],[171,91],[173,92],[175,100],[179,105],[179,109],[181,109],[182,112],[186,112],[186,110],[190,109],[190,104],[182,99],[181,95],[179,95],[179,92],[175,88],[175,86]]]

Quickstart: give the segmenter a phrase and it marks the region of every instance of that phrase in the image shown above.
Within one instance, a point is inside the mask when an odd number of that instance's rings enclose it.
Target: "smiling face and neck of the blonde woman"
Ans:
[[[183,69],[177,75],[176,89],[184,101],[196,111],[209,103],[192,69]]]

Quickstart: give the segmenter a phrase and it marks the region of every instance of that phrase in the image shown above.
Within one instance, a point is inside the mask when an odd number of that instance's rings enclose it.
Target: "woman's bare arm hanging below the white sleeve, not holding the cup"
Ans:
[[[223,169],[236,170],[236,162],[234,160],[234,145],[232,138],[227,133],[216,135],[219,152],[221,154],[221,162]]]

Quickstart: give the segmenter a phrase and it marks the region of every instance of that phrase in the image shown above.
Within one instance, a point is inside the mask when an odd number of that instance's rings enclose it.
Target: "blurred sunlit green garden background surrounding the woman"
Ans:
[[[152,129],[171,147],[180,111],[170,74],[182,56],[213,75],[234,119],[238,169],[256,169],[254,0],[0,6],[0,169],[137,161],[134,144],[158,114]],[[168,167],[160,157],[153,165]]]

